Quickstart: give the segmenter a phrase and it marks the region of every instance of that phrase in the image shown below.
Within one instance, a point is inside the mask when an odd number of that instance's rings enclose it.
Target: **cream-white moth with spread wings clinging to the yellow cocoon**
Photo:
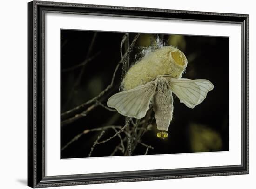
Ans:
[[[174,93],[189,108],[194,108],[205,98],[213,84],[205,79],[175,79],[168,75],[158,76],[153,81],[128,91],[114,94],[107,105],[120,114],[141,119],[145,117],[150,102],[153,105],[157,129],[162,131],[160,137],[166,136],[173,114]],[[166,136],[167,137],[167,136]]]

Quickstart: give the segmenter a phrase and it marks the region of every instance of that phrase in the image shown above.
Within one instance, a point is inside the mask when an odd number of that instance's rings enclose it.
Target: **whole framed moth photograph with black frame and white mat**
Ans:
[[[249,174],[249,15],[28,3],[28,185]]]

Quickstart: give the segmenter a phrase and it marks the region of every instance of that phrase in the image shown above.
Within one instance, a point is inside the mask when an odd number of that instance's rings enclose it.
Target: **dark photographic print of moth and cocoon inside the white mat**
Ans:
[[[229,38],[61,29],[61,158],[229,151]]]

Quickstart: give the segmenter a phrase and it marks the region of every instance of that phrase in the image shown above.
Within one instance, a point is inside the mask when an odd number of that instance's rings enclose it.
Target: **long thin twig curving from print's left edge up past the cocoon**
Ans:
[[[66,111],[66,112],[64,112],[64,113],[62,113],[62,114],[61,114],[61,117],[67,116],[67,115],[69,115],[69,114],[74,113],[75,111],[79,111],[79,110],[83,109],[83,108],[86,107],[88,104],[91,104],[91,103],[95,102],[96,100],[98,100],[101,96],[103,96],[103,95],[105,94],[105,92],[107,92],[109,89],[112,88],[112,86],[113,86],[113,84],[114,84],[114,80],[115,80],[115,74],[116,74],[116,72],[117,72],[119,66],[120,66],[121,63],[124,61],[124,59],[126,59],[126,57],[130,54],[130,52],[131,52],[131,50],[133,49],[133,47],[134,47],[134,45],[135,45],[135,42],[136,42],[136,40],[138,39],[139,35],[140,35],[140,34],[137,34],[137,35],[135,36],[135,38],[133,39],[131,45],[129,46],[128,51],[124,54],[123,58],[122,58],[122,59],[118,62],[118,64],[116,65],[115,71],[114,71],[114,73],[113,73],[113,76],[112,76],[112,79],[111,79],[110,84],[109,84],[103,91],[101,91],[101,93],[100,93],[98,96],[96,96],[96,97],[94,97],[94,98],[88,100],[87,102],[85,102],[85,103],[83,103],[83,104],[81,104],[81,105],[79,105],[79,106],[76,106],[76,107],[74,107],[74,108],[72,108],[72,109],[70,109],[70,110],[68,110],[68,111]]]

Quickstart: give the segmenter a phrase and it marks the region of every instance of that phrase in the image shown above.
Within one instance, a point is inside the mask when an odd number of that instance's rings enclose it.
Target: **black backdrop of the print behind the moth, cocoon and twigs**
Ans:
[[[136,33],[129,34],[131,42]],[[97,96],[109,85],[116,64],[120,61],[120,43],[124,33],[97,32],[89,57],[95,58],[84,67],[79,85],[75,86],[81,67],[61,72],[61,112],[65,112]],[[88,54],[93,31],[61,30],[61,70],[82,63]],[[214,85],[207,98],[194,109],[174,99],[173,120],[169,126],[168,138],[156,137],[157,130],[152,128],[143,137],[143,143],[153,146],[148,154],[170,154],[229,150],[229,38],[161,35],[165,45],[178,47],[188,59],[188,66],[182,78],[208,79]],[[141,49],[152,45],[156,34],[141,34],[130,55],[133,63],[140,58]],[[121,81],[121,70],[117,79]],[[74,87],[75,86],[75,87]],[[118,84],[108,98],[119,91]],[[61,120],[62,121],[62,120]],[[61,147],[66,145],[83,130],[106,125],[124,125],[125,118],[117,112],[97,107],[87,116],[61,127]],[[61,158],[88,157],[88,153],[99,132],[83,135],[61,151]],[[106,133],[106,138],[115,134]],[[105,134],[104,134],[105,135]],[[119,143],[115,137],[108,143],[95,147],[93,156],[109,156]],[[138,145],[133,155],[143,155],[145,147]],[[121,156],[117,153],[116,156]]]

